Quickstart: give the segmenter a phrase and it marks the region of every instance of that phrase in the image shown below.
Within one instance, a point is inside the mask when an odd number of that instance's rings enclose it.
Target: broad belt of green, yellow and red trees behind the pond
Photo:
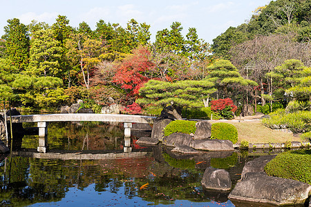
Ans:
[[[32,110],[77,99],[97,112],[111,104],[132,113],[170,106],[176,119],[182,110],[208,119],[210,112],[195,108],[217,99],[232,99],[242,115],[249,105],[267,113],[266,102],[272,112],[275,102],[285,107],[310,96],[309,11],[309,1],[271,1],[212,46],[180,22],[151,42],[150,25],[135,19],[124,27],[100,19],[95,30],[84,21],[73,28],[64,15],[51,26],[9,19],[0,39],[0,99]],[[133,103],[139,106],[129,110]],[[230,110],[213,110],[214,118],[229,118]]]

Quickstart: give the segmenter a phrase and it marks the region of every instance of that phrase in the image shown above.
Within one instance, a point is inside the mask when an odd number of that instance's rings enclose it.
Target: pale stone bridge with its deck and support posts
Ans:
[[[39,128],[38,152],[46,152],[48,122],[54,121],[103,121],[124,123],[124,152],[131,151],[132,123],[153,124],[156,117],[140,115],[111,115],[111,114],[50,114],[50,115],[18,115],[12,116],[12,123],[37,122]]]

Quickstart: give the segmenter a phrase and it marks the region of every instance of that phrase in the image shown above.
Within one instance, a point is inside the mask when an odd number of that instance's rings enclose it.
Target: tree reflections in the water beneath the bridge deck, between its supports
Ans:
[[[123,137],[120,126],[102,122],[50,122],[48,125],[49,149],[120,150]],[[23,148],[37,146],[37,136],[24,137]]]

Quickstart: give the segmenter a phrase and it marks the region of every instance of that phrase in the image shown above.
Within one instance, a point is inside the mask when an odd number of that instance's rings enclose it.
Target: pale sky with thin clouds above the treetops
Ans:
[[[270,0],[0,0],[0,37],[8,19],[17,18],[25,25],[35,19],[51,26],[60,14],[70,26],[77,28],[85,21],[92,30],[100,19],[124,28],[130,19],[145,22],[151,26],[151,42],[156,32],[178,21],[184,36],[189,28],[196,28],[200,39],[213,43],[227,28],[245,23],[252,11],[268,3]]]

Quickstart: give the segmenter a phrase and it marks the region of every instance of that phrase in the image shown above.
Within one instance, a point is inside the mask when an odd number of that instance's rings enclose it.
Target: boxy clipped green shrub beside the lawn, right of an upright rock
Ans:
[[[211,124],[211,139],[226,139],[236,144],[238,141],[238,130],[228,123]]]

